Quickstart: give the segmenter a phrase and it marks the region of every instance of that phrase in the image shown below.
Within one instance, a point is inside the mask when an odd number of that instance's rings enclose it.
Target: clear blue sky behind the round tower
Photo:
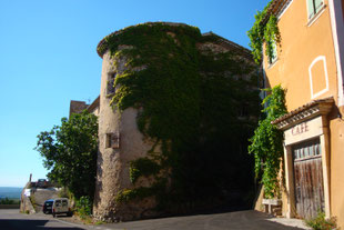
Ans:
[[[0,187],[45,178],[37,134],[60,124],[70,100],[93,101],[107,34],[148,21],[184,22],[249,48],[269,0],[1,0]]]

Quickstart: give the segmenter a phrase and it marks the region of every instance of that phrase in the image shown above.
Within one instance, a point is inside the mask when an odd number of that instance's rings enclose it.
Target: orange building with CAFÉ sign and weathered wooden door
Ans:
[[[337,217],[344,228],[344,20],[343,0],[274,0],[281,43],[264,56],[266,87],[286,89],[286,192],[283,214]]]

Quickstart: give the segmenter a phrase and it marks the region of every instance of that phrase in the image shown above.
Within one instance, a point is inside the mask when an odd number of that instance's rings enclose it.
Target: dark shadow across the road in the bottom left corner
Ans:
[[[49,222],[49,226],[47,223]],[[50,224],[52,223],[52,224]],[[2,230],[42,230],[42,229],[52,229],[52,230],[83,230],[75,227],[59,227],[58,221],[49,220],[18,220],[18,219],[0,219],[0,229]]]

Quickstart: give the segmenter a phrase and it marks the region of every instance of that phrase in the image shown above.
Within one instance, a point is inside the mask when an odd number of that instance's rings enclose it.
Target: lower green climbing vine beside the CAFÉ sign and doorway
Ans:
[[[285,91],[281,86],[274,87],[262,104],[265,119],[259,122],[254,136],[250,139],[249,152],[254,154],[255,174],[262,173],[265,196],[273,198],[279,196],[277,173],[283,157],[283,132],[271,122],[286,113]]]

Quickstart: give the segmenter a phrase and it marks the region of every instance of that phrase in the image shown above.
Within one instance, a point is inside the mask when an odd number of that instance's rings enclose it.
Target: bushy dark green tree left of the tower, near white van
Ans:
[[[61,126],[38,136],[36,150],[43,157],[43,166],[51,170],[48,178],[67,187],[79,199],[93,197],[97,153],[97,117],[83,111],[70,120],[62,118]]]

